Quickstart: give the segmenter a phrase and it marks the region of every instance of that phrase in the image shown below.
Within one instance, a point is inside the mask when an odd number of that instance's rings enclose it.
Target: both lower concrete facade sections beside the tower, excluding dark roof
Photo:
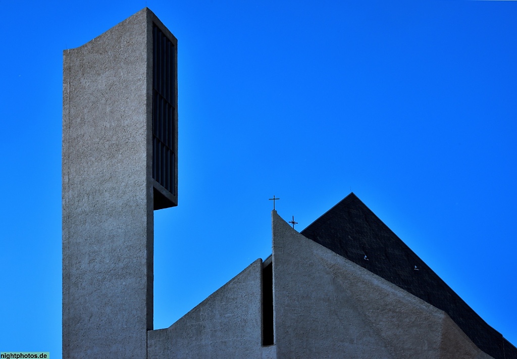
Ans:
[[[149,331],[148,358],[492,358],[447,313],[309,240],[276,211],[272,266],[273,346],[261,345],[259,259],[169,328]]]

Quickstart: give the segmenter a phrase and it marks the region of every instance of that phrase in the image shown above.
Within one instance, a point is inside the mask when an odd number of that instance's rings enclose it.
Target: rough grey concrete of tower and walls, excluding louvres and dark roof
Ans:
[[[261,347],[260,259],[153,330],[154,190],[177,203],[151,177],[153,23],[176,45],[144,9],[64,52],[63,357],[490,358],[445,312],[276,211],[275,345]]]

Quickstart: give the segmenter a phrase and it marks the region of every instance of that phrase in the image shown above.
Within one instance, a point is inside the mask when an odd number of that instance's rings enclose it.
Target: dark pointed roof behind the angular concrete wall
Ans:
[[[301,234],[442,309],[479,349],[495,359],[517,359],[517,349],[486,324],[354,193]]]

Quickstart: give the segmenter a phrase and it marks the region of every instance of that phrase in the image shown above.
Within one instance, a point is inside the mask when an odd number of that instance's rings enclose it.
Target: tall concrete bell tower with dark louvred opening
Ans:
[[[145,358],[177,205],[177,40],[145,8],[63,59],[63,357]]]

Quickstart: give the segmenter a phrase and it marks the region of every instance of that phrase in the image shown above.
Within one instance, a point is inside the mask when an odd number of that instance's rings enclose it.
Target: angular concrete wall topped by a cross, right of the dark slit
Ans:
[[[278,358],[488,358],[441,310],[293,230],[275,211]]]

